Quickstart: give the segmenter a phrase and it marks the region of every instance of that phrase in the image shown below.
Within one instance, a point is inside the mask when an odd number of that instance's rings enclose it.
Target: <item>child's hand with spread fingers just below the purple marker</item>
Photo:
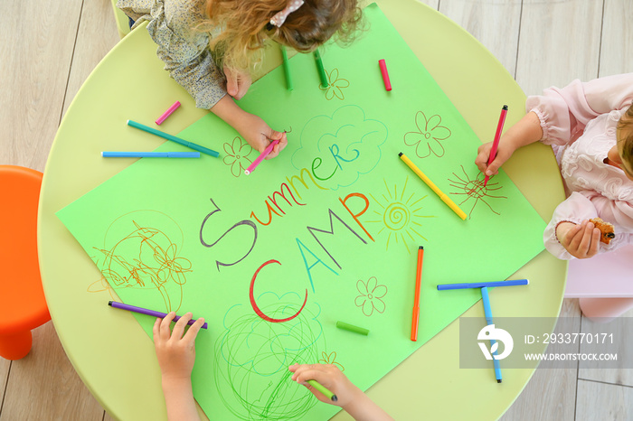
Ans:
[[[192,313],[185,313],[175,323],[174,332],[170,334],[170,324],[175,318],[171,312],[165,319],[156,319],[154,323],[154,345],[158,365],[163,381],[186,380],[191,378],[195,360],[195,336],[200,331],[204,319],[200,318],[184,333],[184,327],[192,318]],[[184,333],[184,336],[183,336]]]

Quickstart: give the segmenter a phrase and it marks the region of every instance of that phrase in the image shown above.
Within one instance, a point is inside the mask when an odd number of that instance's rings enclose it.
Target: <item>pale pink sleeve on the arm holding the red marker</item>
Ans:
[[[541,120],[546,145],[566,145],[581,135],[587,123],[614,109],[626,108],[633,101],[633,73],[581,82],[566,87],[548,88],[543,95],[528,97],[525,110]]]

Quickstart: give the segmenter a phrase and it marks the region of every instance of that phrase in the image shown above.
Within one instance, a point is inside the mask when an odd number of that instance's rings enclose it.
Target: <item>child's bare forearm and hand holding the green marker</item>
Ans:
[[[357,388],[345,374],[332,364],[294,364],[288,368],[294,374],[292,379],[303,384],[321,402],[342,407],[357,421],[393,420],[382,407],[377,406],[360,388]],[[307,380],[316,380],[324,388],[336,395],[335,402],[307,384]]]

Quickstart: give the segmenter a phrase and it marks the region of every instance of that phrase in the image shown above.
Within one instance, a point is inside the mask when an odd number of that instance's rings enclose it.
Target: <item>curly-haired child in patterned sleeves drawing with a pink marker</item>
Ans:
[[[156,42],[165,70],[259,152],[279,140],[268,158],[288,144],[258,116],[242,110],[250,71],[270,39],[297,51],[314,51],[335,33],[350,39],[360,21],[357,0],[118,0],[117,6]],[[228,95],[227,95],[228,94]]]

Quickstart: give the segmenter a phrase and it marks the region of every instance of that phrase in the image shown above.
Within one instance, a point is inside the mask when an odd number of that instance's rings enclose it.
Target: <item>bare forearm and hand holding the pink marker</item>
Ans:
[[[269,127],[261,117],[247,113],[241,109],[230,95],[225,95],[211,108],[216,116],[232,126],[253,149],[263,152],[273,140],[279,140],[266,159],[274,158],[288,145],[284,132],[277,132]]]

